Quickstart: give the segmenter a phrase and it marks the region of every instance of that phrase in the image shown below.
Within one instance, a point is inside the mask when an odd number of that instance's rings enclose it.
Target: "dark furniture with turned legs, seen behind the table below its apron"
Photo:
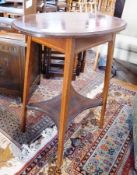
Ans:
[[[72,80],[84,72],[86,51],[78,53],[74,58]],[[42,73],[44,78],[51,76],[62,76],[64,72],[65,55],[51,48],[44,47]]]

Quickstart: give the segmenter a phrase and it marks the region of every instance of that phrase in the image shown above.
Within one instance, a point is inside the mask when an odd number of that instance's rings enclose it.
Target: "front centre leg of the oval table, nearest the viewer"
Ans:
[[[74,66],[74,47],[73,39],[66,39],[65,51],[65,65],[64,65],[64,79],[61,97],[61,113],[59,121],[59,135],[58,135],[58,153],[57,153],[57,167],[60,168],[63,159],[64,150],[64,135],[68,118],[68,106],[70,99],[70,88]]]

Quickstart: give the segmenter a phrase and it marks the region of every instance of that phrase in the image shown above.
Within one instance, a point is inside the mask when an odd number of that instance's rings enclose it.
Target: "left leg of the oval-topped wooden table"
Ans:
[[[24,88],[23,88],[23,104],[22,104],[22,113],[21,113],[21,130],[25,132],[26,126],[26,112],[27,112],[27,101],[29,95],[29,84],[30,84],[30,73],[31,73],[31,45],[32,45],[32,38],[28,36],[27,38],[27,53],[26,53],[26,61],[25,61],[25,76],[24,76]]]

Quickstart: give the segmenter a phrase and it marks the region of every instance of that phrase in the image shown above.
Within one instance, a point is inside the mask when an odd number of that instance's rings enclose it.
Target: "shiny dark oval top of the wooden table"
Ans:
[[[88,37],[116,33],[126,27],[120,18],[81,12],[51,12],[26,15],[12,27],[35,37]]]

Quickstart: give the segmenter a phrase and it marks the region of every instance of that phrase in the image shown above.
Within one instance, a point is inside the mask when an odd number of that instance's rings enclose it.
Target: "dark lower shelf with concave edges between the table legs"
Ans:
[[[82,111],[101,106],[102,98],[89,99],[78,94],[74,88],[71,86],[70,92],[70,103],[69,103],[69,114],[68,114],[68,124]],[[51,100],[30,103],[27,105],[27,109],[37,110],[46,113],[56,124],[59,126],[59,114],[61,109],[61,95],[52,98]]]

